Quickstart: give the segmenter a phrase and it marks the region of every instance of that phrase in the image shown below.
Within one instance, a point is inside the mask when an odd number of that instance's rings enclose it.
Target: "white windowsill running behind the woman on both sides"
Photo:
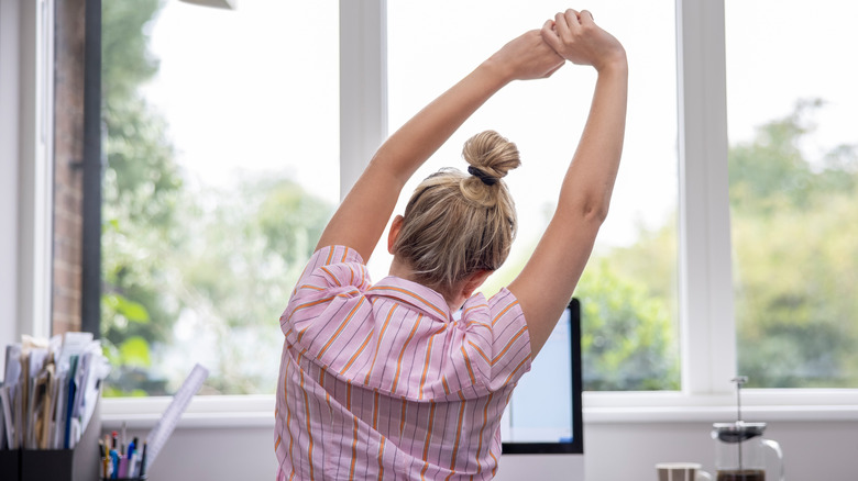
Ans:
[[[172,398],[106,399],[101,406],[105,429],[124,422],[131,429],[151,429]],[[747,390],[743,413],[757,421],[858,421],[858,390]],[[735,395],[689,395],[681,392],[584,393],[584,422],[712,423],[732,421]],[[180,428],[273,428],[274,396],[196,396]]]

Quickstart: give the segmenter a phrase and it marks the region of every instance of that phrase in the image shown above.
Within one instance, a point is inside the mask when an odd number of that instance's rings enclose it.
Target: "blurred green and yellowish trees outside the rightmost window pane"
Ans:
[[[858,155],[800,146],[821,100],[729,150],[739,371],[751,385],[858,382]]]

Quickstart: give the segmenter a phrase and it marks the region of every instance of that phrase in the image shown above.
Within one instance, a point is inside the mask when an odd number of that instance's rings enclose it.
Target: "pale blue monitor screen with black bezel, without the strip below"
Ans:
[[[581,305],[570,302],[513,391],[501,422],[504,455],[584,452]]]

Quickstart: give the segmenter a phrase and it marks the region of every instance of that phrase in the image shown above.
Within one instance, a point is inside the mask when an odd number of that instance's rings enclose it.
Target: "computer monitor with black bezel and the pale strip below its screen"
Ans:
[[[581,303],[572,299],[501,422],[498,480],[584,478]]]

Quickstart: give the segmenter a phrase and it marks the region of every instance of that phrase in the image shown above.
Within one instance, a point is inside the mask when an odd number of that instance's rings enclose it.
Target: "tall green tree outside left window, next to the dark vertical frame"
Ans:
[[[162,254],[180,243],[175,206],[182,179],[166,141],[166,123],[139,93],[157,71],[146,26],[157,0],[102,3],[101,334],[114,365],[108,395],[163,391],[143,371],[153,342],[166,338],[177,309],[157,289]]]

